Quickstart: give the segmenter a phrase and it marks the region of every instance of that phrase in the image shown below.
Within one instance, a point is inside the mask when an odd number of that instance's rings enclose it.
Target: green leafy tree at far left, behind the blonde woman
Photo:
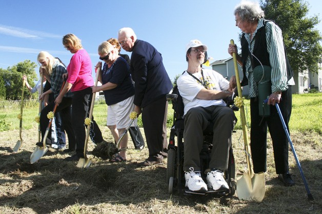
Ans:
[[[37,79],[34,69],[35,67],[37,67],[36,63],[31,62],[30,60],[25,60],[13,65],[12,67],[8,67],[5,72],[2,71],[7,100],[21,100],[23,75],[28,77],[28,83],[30,83],[31,87],[35,85],[34,81]],[[30,98],[34,96],[31,96],[30,92],[25,88],[24,97]]]

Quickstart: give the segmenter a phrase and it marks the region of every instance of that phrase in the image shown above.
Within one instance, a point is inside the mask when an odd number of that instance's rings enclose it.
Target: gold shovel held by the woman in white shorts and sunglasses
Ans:
[[[95,86],[97,86],[99,73],[100,73],[100,67],[97,67],[96,68]],[[93,92],[91,108],[89,111],[89,117],[87,117],[84,122],[84,124],[87,126],[85,144],[84,144],[84,158],[79,158],[78,163],[76,165],[76,167],[78,167],[78,168],[89,168],[90,165],[92,164],[92,160],[87,158],[87,145],[88,145],[89,132],[91,129],[91,123],[92,123],[92,117],[93,117],[95,94],[96,94],[96,92]]]

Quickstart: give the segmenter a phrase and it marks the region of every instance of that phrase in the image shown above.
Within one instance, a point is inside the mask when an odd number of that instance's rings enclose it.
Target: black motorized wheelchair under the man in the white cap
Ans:
[[[172,108],[174,109],[173,115],[173,126],[170,131],[170,139],[168,145],[168,162],[167,162],[167,182],[169,182],[169,194],[173,194],[175,191],[178,194],[199,194],[208,195],[216,194],[219,196],[233,196],[236,191],[236,181],[235,181],[235,160],[233,155],[232,147],[229,150],[229,163],[228,169],[224,172],[224,178],[229,186],[229,191],[213,191],[208,189],[206,193],[195,193],[189,191],[185,187],[185,173],[183,171],[184,164],[184,104],[182,97],[179,94],[177,86],[173,88],[172,93],[166,95],[167,101],[172,102]],[[238,108],[233,104],[233,99],[225,100],[227,106],[231,107],[234,111]],[[201,163],[201,174],[204,181],[206,181],[207,172],[206,169],[209,168],[210,154],[212,150],[212,131],[213,124],[211,124],[207,130],[204,131],[204,144],[203,149],[200,153],[200,163]],[[176,142],[176,144],[175,144]]]

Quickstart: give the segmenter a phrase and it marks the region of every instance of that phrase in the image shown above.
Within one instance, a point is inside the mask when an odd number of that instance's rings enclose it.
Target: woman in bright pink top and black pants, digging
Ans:
[[[56,98],[59,105],[64,94],[71,89],[73,92],[72,101],[72,124],[76,135],[76,154],[67,157],[66,160],[79,160],[84,158],[84,145],[86,130],[84,125],[85,118],[89,117],[90,106],[92,102],[92,87],[94,86],[92,78],[91,59],[83,49],[81,39],[74,34],[67,34],[63,37],[64,47],[74,54],[67,66],[68,79],[62,92]],[[102,132],[92,117],[90,137],[94,144],[103,142]]]

